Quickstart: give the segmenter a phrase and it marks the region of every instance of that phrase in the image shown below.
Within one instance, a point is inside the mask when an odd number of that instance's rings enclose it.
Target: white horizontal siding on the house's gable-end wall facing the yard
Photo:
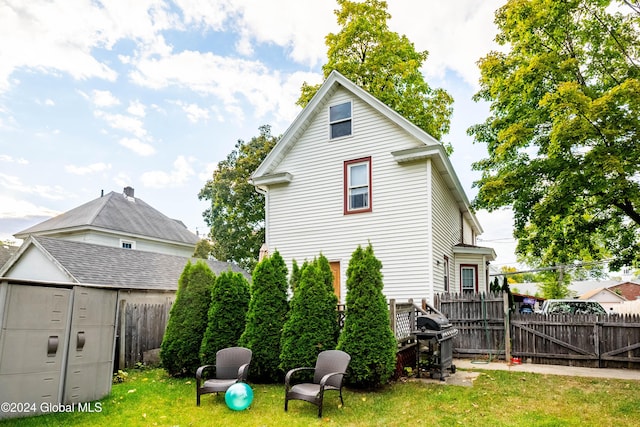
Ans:
[[[352,99],[340,89],[328,105],[347,100]],[[387,298],[424,297],[431,281],[427,167],[398,165],[391,156],[421,143],[359,99],[352,100],[352,112],[358,131],[349,139],[327,141],[328,115],[317,114],[273,171],[293,179],[269,188],[269,249],[277,249],[289,266],[292,258],[301,263],[320,252],[340,261],[344,300],[351,254],[371,242],[383,265]],[[372,211],[344,215],[344,162],[365,157],[371,157]]]

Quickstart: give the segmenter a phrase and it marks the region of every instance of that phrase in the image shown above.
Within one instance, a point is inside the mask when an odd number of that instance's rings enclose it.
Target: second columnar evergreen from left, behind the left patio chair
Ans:
[[[211,290],[207,329],[200,347],[203,365],[213,364],[218,350],[234,347],[246,326],[249,282],[241,273],[220,273]]]

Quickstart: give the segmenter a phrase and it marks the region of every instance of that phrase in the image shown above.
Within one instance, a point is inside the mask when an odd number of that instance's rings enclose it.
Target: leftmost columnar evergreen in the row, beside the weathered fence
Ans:
[[[195,375],[215,275],[204,261],[187,262],[162,339],[160,359],[169,375]]]

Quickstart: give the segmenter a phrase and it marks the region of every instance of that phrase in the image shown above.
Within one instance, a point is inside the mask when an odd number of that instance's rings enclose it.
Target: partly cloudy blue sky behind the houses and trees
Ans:
[[[454,97],[452,163],[472,199],[466,135],[491,49],[496,0],[388,0],[389,26],[428,50]],[[135,188],[206,234],[197,198],[238,139],[283,133],[302,82],[322,80],[333,0],[0,0],[0,240],[100,196]],[[508,211],[478,212],[478,243],[515,263]]]

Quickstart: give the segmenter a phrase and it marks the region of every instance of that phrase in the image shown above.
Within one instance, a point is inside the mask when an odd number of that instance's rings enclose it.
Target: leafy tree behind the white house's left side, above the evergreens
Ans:
[[[249,271],[264,242],[264,196],[249,179],[278,140],[271,135],[270,126],[260,126],[259,130],[260,135],[249,142],[238,140],[198,194],[200,200],[211,202],[203,212],[211,227],[211,254]]]

